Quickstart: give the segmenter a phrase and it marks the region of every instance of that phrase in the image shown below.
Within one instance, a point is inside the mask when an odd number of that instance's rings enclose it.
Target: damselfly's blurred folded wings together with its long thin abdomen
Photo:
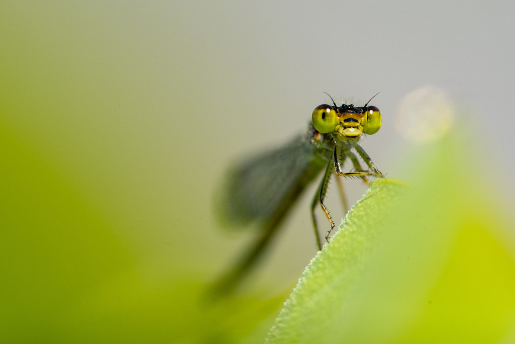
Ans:
[[[304,136],[242,162],[229,174],[221,212],[235,223],[260,221],[261,233],[215,284],[215,293],[227,293],[238,284],[262,256],[306,185],[327,165],[331,151],[322,148],[320,138],[311,126]]]

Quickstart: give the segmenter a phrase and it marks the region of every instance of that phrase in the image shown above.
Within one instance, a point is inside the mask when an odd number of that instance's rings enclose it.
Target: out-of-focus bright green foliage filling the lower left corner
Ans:
[[[209,302],[205,272],[138,257],[124,228],[1,121],[0,156],[0,342],[263,340],[283,296]]]

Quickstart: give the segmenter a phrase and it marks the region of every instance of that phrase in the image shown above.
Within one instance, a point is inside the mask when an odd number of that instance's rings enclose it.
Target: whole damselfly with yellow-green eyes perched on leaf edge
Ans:
[[[234,285],[255,263],[291,206],[324,168],[311,204],[313,228],[319,250],[322,249],[323,239],[315,217],[317,205],[321,206],[329,220],[330,229],[325,235],[326,241],[335,227],[335,222],[323,203],[331,176],[335,174],[341,177],[359,177],[367,185],[367,177],[383,177],[358,144],[364,134],[375,134],[381,128],[381,112],[377,107],[368,105],[371,100],[360,107],[352,104],[337,106],[331,97],[333,105],[317,106],[312,114],[312,123],[303,135],[281,148],[244,161],[230,173],[222,211],[231,222],[243,224],[259,221],[261,237],[246,251],[236,269],[222,280],[224,288]],[[353,151],[363,159],[368,169],[362,169]],[[342,172],[346,159],[354,167],[351,172]],[[340,178],[336,179],[340,191],[343,191]],[[344,192],[340,194],[347,212]]]

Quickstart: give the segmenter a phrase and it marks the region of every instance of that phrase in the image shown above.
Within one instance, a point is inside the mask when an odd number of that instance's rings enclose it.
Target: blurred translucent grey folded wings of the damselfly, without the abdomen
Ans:
[[[281,211],[284,215],[327,163],[316,150],[315,144],[299,137],[243,161],[228,175],[222,215],[237,224],[267,220]]]

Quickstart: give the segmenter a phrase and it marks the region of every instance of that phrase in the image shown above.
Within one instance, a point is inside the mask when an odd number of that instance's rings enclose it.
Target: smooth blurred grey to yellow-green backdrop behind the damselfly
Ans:
[[[144,270],[212,280],[256,234],[215,219],[225,171],[302,132],[329,102],[323,91],[355,105],[381,92],[371,104],[383,126],[363,146],[403,179],[418,143],[396,130],[399,105],[440,90],[457,109],[450,130],[465,128],[484,149],[464,170],[488,171],[492,190],[512,200],[514,10],[448,0],[5,2],[2,92],[24,111],[2,120],[100,209]],[[346,183],[351,202],[362,184]],[[253,283],[288,290],[316,253],[313,192]],[[327,203],[339,223],[335,192]]]

